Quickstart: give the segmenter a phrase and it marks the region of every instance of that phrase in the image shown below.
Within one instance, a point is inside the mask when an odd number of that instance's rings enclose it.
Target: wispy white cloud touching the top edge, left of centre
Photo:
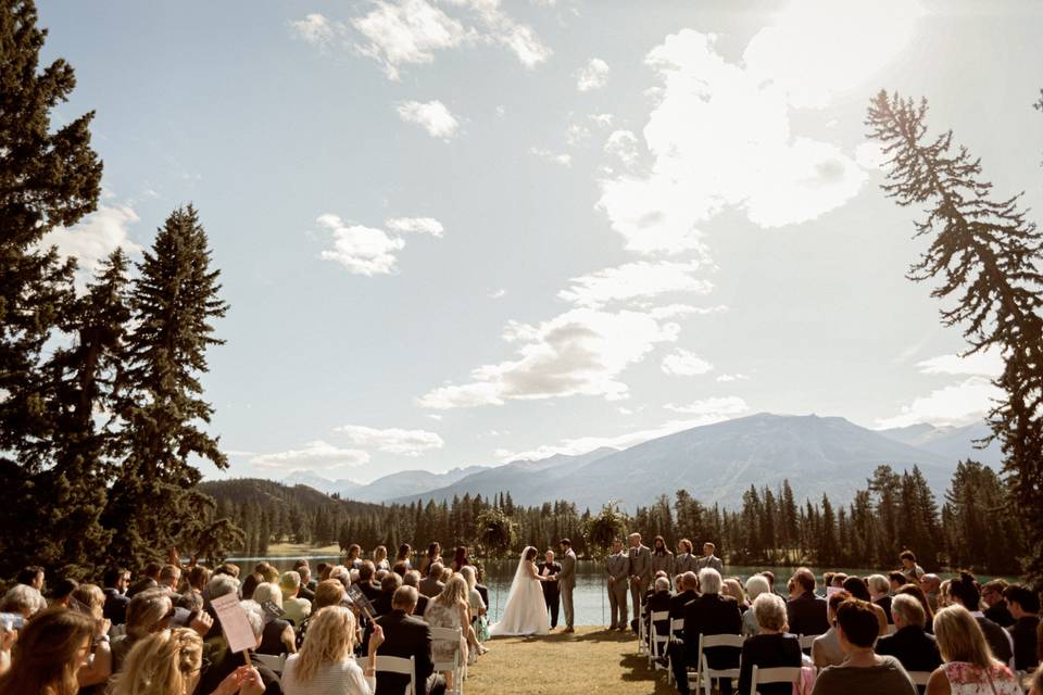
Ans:
[[[515,22],[499,0],[444,0],[451,16],[433,0],[377,0],[375,8],[351,20],[364,37],[355,48],[384,65],[389,79],[399,79],[405,65],[431,63],[435,53],[464,45],[499,45],[528,68],[552,51],[528,25]]]

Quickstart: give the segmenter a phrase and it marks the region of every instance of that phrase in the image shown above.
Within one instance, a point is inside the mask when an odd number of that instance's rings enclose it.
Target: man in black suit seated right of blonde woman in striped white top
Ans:
[[[391,612],[377,619],[384,629],[384,643],[377,648],[378,656],[414,657],[416,668],[416,695],[443,693],[445,683],[435,673],[431,656],[431,629],[413,616],[417,592],[412,586],[400,586],[391,599]],[[377,692],[380,695],[402,695],[409,678],[398,673],[377,671]]]

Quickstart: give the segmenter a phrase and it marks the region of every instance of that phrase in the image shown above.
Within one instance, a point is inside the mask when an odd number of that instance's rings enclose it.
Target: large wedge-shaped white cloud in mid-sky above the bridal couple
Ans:
[[[510,321],[504,340],[519,345],[516,358],[480,366],[472,381],[433,389],[418,400],[433,409],[502,405],[508,400],[629,395],[619,375],[680,327],[642,312],[574,308],[536,326]]]

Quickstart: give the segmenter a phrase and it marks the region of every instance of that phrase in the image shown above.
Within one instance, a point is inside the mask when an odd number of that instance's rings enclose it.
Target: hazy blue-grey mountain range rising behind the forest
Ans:
[[[919,466],[941,496],[958,460],[975,458],[998,467],[996,444],[985,450],[973,446],[973,440],[988,433],[982,422],[869,430],[842,417],[762,413],[624,451],[600,448],[578,456],[558,454],[537,462],[470,466],[444,473],[404,471],[366,485],[307,472],[293,473],[284,482],[362,502],[441,502],[466,493],[489,496],[510,491],[516,504],[569,500],[580,509],[596,509],[608,501],[619,501],[632,511],[661,494],[673,500],[682,488],[704,504],[716,502],[734,508],[751,484],[774,490],[783,479],[790,481],[800,501],[826,493],[837,502],[847,502],[876,466],[889,464],[897,471]]]

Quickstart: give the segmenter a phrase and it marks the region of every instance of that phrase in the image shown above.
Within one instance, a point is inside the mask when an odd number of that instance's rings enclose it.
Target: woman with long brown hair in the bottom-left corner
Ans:
[[[11,649],[0,695],[76,695],[76,673],[90,654],[95,630],[93,620],[74,610],[51,608],[37,615]]]

